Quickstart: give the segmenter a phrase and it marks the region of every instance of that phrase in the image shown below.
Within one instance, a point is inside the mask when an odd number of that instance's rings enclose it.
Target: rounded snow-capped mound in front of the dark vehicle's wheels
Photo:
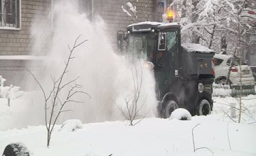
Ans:
[[[178,119],[181,121],[191,121],[191,113],[189,113],[188,110],[186,110],[185,108],[176,108],[170,116],[170,120],[172,119]]]

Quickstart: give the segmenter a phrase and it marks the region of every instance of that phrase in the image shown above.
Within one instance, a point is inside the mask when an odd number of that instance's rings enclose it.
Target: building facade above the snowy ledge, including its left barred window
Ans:
[[[31,25],[46,18],[56,0],[1,0],[0,6],[0,55],[30,55]],[[63,0],[59,0],[63,1]],[[67,1],[67,0],[65,0]],[[130,11],[127,1],[78,0],[76,3],[90,13],[92,21],[99,15],[115,37],[117,30],[139,21],[159,21],[158,0],[129,1],[136,6],[136,15]],[[74,1],[75,3],[75,1]],[[124,12],[129,11],[132,17]]]

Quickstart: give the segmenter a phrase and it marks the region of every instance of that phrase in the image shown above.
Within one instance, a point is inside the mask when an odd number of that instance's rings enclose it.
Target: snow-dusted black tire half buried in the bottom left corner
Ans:
[[[3,156],[29,156],[29,152],[25,145],[11,143],[5,147]]]

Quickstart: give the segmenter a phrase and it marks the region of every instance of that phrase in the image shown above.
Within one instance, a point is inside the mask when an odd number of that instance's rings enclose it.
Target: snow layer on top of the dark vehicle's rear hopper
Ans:
[[[214,52],[213,50],[195,43],[183,43],[181,46],[186,49],[188,52]]]

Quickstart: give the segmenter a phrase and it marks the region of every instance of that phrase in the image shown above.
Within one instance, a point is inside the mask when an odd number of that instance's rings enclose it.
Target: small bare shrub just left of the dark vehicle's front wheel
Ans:
[[[142,91],[142,64],[139,62],[140,69],[138,71],[134,60],[132,61],[134,64],[134,71],[132,70],[132,82],[134,84],[132,96],[127,96],[124,98],[125,108],[120,108],[119,106],[118,108],[121,111],[122,116],[124,116],[124,118],[129,121],[129,125],[135,126],[146,117],[146,114],[143,116],[139,114],[145,104],[144,101],[143,104],[139,106],[139,99],[141,98]],[[138,118],[140,118],[140,120],[134,122],[134,120]]]

